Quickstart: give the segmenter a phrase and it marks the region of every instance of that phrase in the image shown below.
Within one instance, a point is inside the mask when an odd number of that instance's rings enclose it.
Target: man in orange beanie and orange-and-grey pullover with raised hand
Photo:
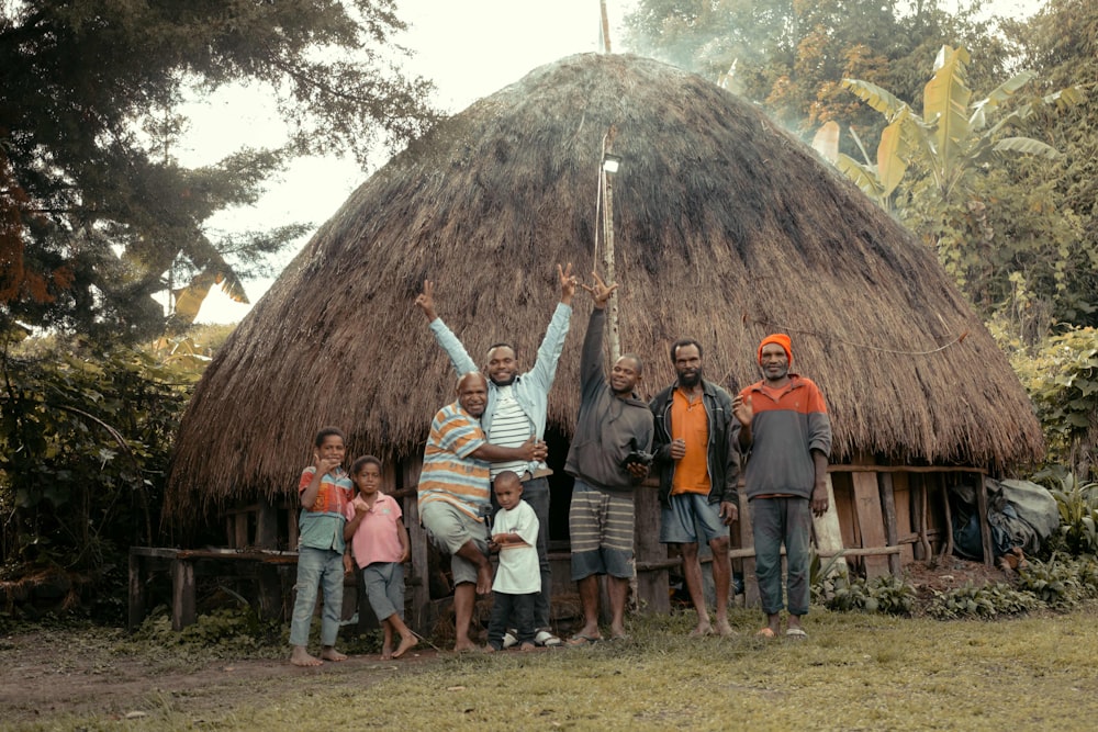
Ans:
[[[744,488],[751,506],[755,576],[766,613],[766,627],[759,634],[774,638],[781,630],[785,544],[789,613],[785,634],[804,639],[800,618],[808,613],[813,514],[821,516],[828,507],[831,421],[816,384],[789,371],[788,336],[766,336],[758,356],[763,380],[741,391],[732,409],[741,425],[740,448],[750,450]]]

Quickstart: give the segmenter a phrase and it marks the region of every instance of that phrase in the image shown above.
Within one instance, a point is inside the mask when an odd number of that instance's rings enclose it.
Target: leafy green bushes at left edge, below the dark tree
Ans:
[[[127,548],[150,542],[171,440],[209,360],[165,344],[163,358],[57,338],[0,351],[7,574],[59,566],[117,584]]]

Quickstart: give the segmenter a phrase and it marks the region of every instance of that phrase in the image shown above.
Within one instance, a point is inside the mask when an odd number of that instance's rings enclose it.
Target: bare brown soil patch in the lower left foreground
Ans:
[[[112,638],[104,638],[112,635]],[[66,713],[137,718],[171,709],[191,719],[217,719],[240,699],[272,702],[323,678],[327,689],[361,689],[436,657],[415,649],[400,661],[377,655],[299,668],[287,661],[152,661],[119,652],[121,632],[34,630],[0,637],[3,727]]]

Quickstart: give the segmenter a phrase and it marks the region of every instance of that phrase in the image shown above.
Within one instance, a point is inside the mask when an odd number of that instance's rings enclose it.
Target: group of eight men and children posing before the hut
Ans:
[[[493,609],[488,651],[514,644],[533,650],[603,640],[598,624],[601,575],[607,578],[608,638],[627,638],[624,616],[635,573],[634,495],[650,471],[658,473],[660,482],[660,541],[675,545],[682,556],[684,582],[697,613],[691,633],[731,634],[729,528],[739,518],[738,485],[744,460],[755,571],[766,615],[759,634],[776,637],[782,611],[787,609],[786,634],[805,638],[800,619],[808,612],[811,516],[828,508],[831,428],[819,388],[791,371],[789,337],[775,334],[762,340],[757,354],[762,380],[735,397],[704,378],[702,345],[694,339],[679,340],[670,349],[675,381],[650,403],[645,402],[637,395],[643,375],[639,356],[621,356],[608,374],[604,367],[606,304],[617,284],[593,274],[593,284],[581,285],[571,264],[558,266],[557,271],[560,302],[528,371],[520,370],[515,348],[507,342],[489,348],[482,371],[438,317],[432,282],[424,283],[415,301],[458,374],[457,399],[432,421],[418,485],[423,527],[451,560],[455,650],[479,647],[470,638],[470,623],[477,596],[490,592]],[[545,428],[549,391],[578,286],[591,294],[593,307],[581,352],[580,412],[564,471],[573,478],[569,507],[571,578],[576,583],[583,624],[568,641],[561,641],[549,615],[548,476],[552,471],[546,464]],[[329,590],[336,592],[338,575],[341,592],[346,540],[352,542],[354,561],[363,572],[372,607],[384,627],[382,655],[399,657],[416,641],[401,620],[403,595],[396,597],[395,585],[403,592],[400,565],[407,559],[407,532],[400,507],[390,499],[391,506],[381,503],[382,508],[378,508],[384,495],[378,491],[376,459],[359,459],[348,476],[340,468],[343,458],[343,436],[330,428],[322,430],[314,465],[305,469],[299,485],[301,551],[290,639],[291,661],[299,665],[343,657],[334,649],[339,604],[332,603],[337,596]],[[376,478],[360,476],[362,461],[370,469],[368,475],[377,472]],[[351,496],[352,485],[358,487],[357,497]],[[367,520],[376,511],[390,518]],[[384,534],[386,541],[374,534]],[[392,539],[395,542],[388,541]],[[713,552],[713,621],[698,558],[703,539]],[[382,543],[385,551],[381,551]],[[783,545],[787,603],[783,598]],[[493,553],[498,554],[494,576]],[[305,641],[322,585],[323,649],[316,658],[307,653]],[[335,607],[329,609],[329,604]]]

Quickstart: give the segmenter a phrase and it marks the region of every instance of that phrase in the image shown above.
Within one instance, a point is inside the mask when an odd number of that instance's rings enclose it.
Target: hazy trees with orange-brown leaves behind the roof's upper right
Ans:
[[[914,7],[898,0],[640,0],[626,19],[627,43],[722,79],[807,138],[831,120],[878,131],[879,120],[852,103],[840,80],[865,79],[915,97],[943,41],[979,49],[987,67],[972,69],[974,78],[997,76],[1005,49],[976,20],[977,10],[974,3],[948,13],[935,0]]]

